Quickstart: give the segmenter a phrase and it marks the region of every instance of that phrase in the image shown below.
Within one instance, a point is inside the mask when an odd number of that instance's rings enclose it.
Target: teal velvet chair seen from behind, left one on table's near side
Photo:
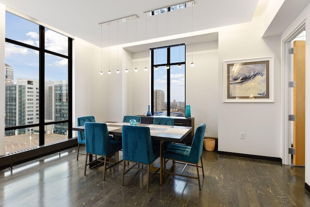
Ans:
[[[122,149],[122,142],[110,140],[109,131],[107,124],[105,123],[92,123],[85,122],[85,150],[86,150],[86,159],[84,167],[84,175],[86,175],[86,166],[94,161],[104,162],[103,170],[103,180],[105,180],[106,170],[114,166],[117,163],[109,162],[107,156],[112,155],[113,153],[118,152]],[[101,156],[98,159],[93,160],[92,162],[87,163],[87,157],[92,154]],[[92,156],[90,155],[90,156]],[[111,163],[107,168],[107,162]]]

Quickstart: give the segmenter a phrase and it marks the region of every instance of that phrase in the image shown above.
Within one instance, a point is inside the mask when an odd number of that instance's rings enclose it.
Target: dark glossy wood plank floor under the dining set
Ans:
[[[131,170],[123,187],[123,164],[110,168],[106,181],[102,167],[84,175],[85,157],[77,161],[72,148],[0,171],[0,206],[310,207],[304,168],[205,150],[202,157],[202,191],[196,179],[171,175],[160,186],[156,175],[147,193],[146,172]],[[195,168],[185,173],[195,174]]]

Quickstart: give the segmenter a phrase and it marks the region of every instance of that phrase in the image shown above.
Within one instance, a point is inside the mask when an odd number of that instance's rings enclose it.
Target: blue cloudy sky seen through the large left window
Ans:
[[[39,25],[6,12],[5,37],[31,46],[39,46]],[[68,38],[49,30],[45,31],[45,48],[68,55]],[[68,61],[65,58],[45,54],[45,80],[68,80]],[[38,50],[5,43],[5,63],[14,68],[17,78],[39,79]]]

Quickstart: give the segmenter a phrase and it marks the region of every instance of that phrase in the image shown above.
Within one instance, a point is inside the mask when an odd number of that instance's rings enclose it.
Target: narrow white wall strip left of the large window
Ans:
[[[3,4],[0,4],[0,65],[5,65],[5,58],[4,58],[4,49],[5,49],[5,42],[3,41],[5,39],[5,6]],[[0,96],[4,97],[5,96],[5,89],[4,89],[4,73],[0,73],[0,80],[1,80],[1,85],[0,87]],[[0,101],[0,117],[3,117],[0,120],[0,126],[4,126],[4,98],[1,98]],[[0,155],[4,154],[4,127],[0,127]]]

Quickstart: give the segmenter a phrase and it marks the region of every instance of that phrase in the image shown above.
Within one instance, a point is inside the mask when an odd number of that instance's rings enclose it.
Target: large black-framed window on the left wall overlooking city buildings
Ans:
[[[72,39],[5,18],[5,153],[71,137]]]

